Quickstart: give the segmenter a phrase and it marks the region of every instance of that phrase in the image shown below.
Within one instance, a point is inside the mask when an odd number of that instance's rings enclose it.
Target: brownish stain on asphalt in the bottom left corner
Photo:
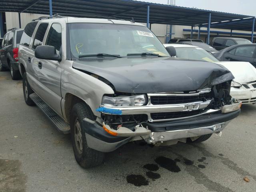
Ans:
[[[19,160],[0,159],[1,192],[25,192],[26,175],[20,168]]]

